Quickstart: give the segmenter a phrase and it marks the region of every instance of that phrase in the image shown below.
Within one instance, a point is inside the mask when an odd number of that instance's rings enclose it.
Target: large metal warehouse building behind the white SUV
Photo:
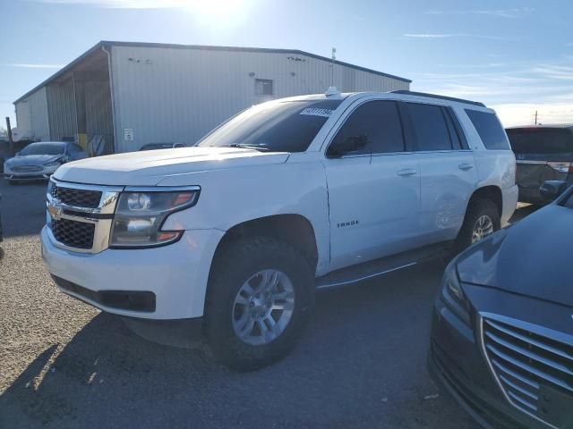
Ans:
[[[273,98],[409,89],[411,80],[289,49],[99,42],[18,98],[23,138],[73,139],[93,153],[192,144]]]

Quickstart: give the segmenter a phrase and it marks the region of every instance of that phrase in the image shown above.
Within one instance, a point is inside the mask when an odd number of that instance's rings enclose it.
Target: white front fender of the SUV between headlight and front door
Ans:
[[[329,265],[329,205],[324,169],[312,161],[252,165],[240,169],[170,176],[161,186],[201,187],[196,206],[171,214],[169,230],[218,229],[277,214],[300,214],[312,225],[317,275]]]

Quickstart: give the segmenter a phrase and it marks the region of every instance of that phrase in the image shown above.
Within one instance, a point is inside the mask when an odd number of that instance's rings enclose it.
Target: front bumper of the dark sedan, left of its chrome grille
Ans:
[[[428,369],[466,412],[486,428],[547,429],[505,399],[481,349],[478,317],[468,326],[441,299],[434,303]]]

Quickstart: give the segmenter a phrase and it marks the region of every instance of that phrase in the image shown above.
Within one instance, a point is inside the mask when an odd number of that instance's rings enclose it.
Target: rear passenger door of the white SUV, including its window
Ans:
[[[474,154],[449,106],[403,103],[402,111],[420,163],[419,245],[453,240],[477,183]]]

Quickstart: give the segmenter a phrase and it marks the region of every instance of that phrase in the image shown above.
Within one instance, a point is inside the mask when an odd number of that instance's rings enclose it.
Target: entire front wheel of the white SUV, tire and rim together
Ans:
[[[248,371],[268,366],[295,347],[314,303],[312,270],[286,243],[235,240],[216,258],[205,312],[215,357]]]

